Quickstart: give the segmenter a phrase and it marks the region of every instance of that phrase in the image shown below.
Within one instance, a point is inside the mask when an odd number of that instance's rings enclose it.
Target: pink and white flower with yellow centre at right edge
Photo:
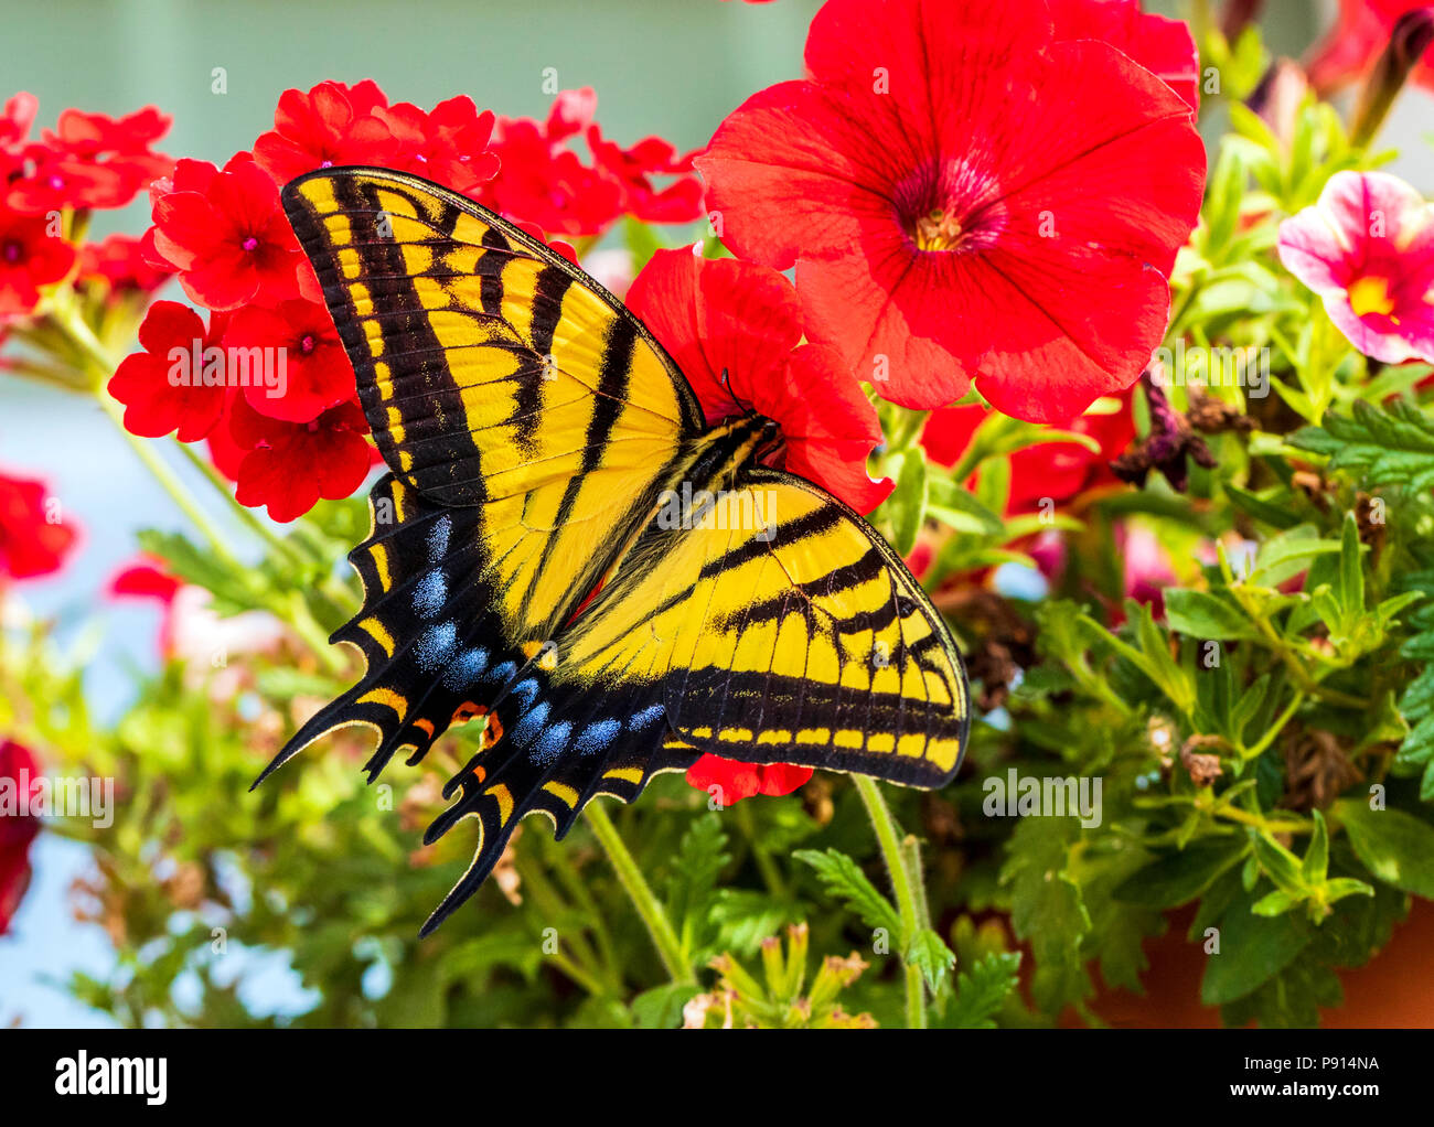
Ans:
[[[1387,172],[1336,172],[1279,227],[1279,260],[1361,353],[1434,361],[1434,205]]]

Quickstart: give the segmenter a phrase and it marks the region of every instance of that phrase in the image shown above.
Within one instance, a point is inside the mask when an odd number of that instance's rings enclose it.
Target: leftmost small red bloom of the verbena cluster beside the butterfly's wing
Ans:
[[[178,432],[198,442],[219,422],[229,383],[224,354],[228,314],[199,314],[178,301],[156,301],[139,327],[142,353],[126,356],[109,380],[125,404],[125,430],[158,439]]]

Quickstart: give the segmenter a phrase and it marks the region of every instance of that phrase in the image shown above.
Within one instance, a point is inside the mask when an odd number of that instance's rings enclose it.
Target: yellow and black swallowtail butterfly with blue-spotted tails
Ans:
[[[708,426],[652,334],[549,247],[420,178],[328,168],[284,188],[386,473],[348,559],[364,657],[255,786],[348,724],[423,759],[483,723],[432,842],[478,822],[427,935],[518,822],[562,837],[703,753],[949,781],[965,670],[901,558],[842,502],[763,465],[750,412]]]

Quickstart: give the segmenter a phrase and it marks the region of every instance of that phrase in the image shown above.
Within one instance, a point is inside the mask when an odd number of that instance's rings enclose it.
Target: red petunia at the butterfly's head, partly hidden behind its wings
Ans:
[[[687,376],[708,422],[751,409],[782,427],[784,467],[868,513],[892,490],[866,457],[876,412],[829,348],[802,341],[802,307],[774,270],[658,251],[628,290],[631,308]]]

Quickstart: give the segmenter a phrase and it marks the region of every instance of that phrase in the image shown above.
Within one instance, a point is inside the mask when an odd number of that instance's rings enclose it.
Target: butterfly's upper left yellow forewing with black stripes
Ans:
[[[685,380],[578,267],[437,185],[323,169],[284,206],[389,467],[480,506],[506,622],[546,639],[701,430]]]

